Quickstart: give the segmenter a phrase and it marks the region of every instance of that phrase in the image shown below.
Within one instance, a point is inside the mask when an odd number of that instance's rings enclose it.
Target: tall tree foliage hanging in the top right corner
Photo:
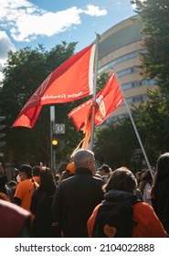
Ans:
[[[142,54],[143,75],[155,79],[163,93],[168,94],[169,87],[169,2],[168,0],[132,1],[136,13],[143,21]]]

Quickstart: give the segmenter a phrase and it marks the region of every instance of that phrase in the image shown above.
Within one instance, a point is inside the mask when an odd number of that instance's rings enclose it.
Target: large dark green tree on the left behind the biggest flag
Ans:
[[[37,165],[42,161],[49,163],[50,125],[49,106],[44,106],[33,129],[24,127],[10,128],[26,101],[37,90],[48,74],[74,54],[76,42],[57,45],[47,51],[43,46],[38,48],[23,48],[16,52],[10,51],[4,69],[5,79],[0,89],[0,114],[6,116],[6,146],[5,161],[13,158],[16,165],[29,162]],[[76,103],[78,104],[78,103]],[[74,102],[56,106],[57,123],[66,123],[67,133],[64,140],[64,158],[81,138],[80,133],[74,133],[75,128],[68,120],[67,114],[75,106]],[[68,124],[68,125],[67,125]],[[61,136],[61,134],[60,134]],[[63,157],[58,154],[58,162]]]

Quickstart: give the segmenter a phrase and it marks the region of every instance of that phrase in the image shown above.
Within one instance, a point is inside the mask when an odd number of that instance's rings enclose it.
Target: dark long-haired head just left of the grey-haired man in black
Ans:
[[[42,190],[55,190],[56,182],[50,168],[43,166],[40,170],[40,189]]]

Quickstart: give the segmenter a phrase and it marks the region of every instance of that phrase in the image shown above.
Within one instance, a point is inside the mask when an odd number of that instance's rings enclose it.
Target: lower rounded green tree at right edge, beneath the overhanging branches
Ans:
[[[169,111],[168,102],[158,90],[147,91],[149,101],[137,110],[136,123],[142,130],[144,146],[151,163],[158,155],[169,151]]]

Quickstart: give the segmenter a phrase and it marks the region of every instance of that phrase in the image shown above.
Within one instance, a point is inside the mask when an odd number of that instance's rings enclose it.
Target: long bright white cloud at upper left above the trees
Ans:
[[[45,13],[41,16],[19,16],[16,27],[11,28],[11,36],[18,41],[29,41],[37,35],[51,37],[67,30],[72,25],[79,25],[79,13],[77,7],[69,8],[58,13]]]

